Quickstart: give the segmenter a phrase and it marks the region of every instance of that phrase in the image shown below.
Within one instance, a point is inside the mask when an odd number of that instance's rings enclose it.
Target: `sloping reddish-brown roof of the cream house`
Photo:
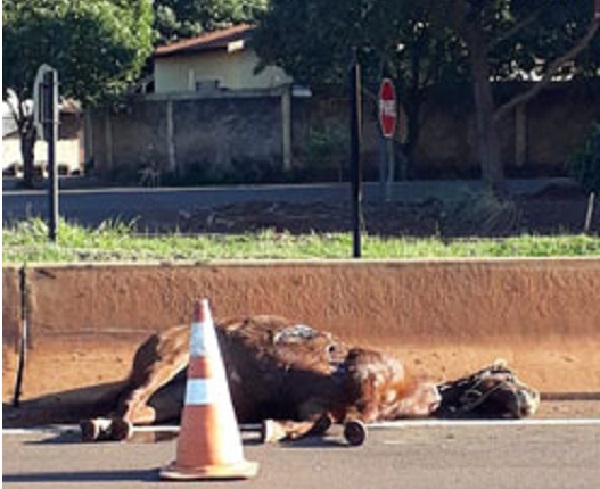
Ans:
[[[240,24],[228,29],[207,32],[192,39],[184,39],[159,46],[155,49],[154,56],[165,58],[204,51],[231,50],[231,44],[235,42],[241,42],[243,48],[243,42],[250,39],[253,29],[250,25]],[[236,49],[239,49],[239,47],[236,47]]]

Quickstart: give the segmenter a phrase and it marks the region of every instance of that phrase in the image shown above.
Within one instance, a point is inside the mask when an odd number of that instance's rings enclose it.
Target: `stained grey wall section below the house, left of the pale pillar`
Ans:
[[[122,182],[139,180],[142,167],[183,175],[188,184],[231,175],[257,180],[281,166],[281,117],[281,90],[156,95],[117,114],[96,110],[89,131],[94,172]]]

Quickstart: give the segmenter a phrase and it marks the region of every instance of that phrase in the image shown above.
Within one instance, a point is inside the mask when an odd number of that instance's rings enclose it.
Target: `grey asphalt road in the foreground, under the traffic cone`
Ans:
[[[600,420],[415,423],[371,429],[362,447],[347,446],[339,427],[325,439],[280,445],[260,445],[256,437],[245,434],[245,455],[260,463],[258,476],[219,487],[596,489],[600,480]],[[82,444],[77,432],[3,433],[3,487],[181,488],[186,483],[157,476],[173,461],[175,443]]]

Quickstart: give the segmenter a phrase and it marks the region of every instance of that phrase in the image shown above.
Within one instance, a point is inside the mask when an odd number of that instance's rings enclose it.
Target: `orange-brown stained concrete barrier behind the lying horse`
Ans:
[[[13,270],[3,269],[9,354]],[[541,390],[600,391],[597,259],[28,266],[26,280],[23,399],[124,379],[139,342],[189,323],[199,297],[217,319],[282,314],[400,355],[438,380],[504,357]]]

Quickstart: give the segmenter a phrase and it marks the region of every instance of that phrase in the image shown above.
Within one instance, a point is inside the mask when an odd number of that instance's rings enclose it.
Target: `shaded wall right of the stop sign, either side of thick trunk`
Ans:
[[[507,98],[529,87],[503,88]],[[598,88],[556,83],[507,115],[500,126],[506,171],[512,175],[562,174],[567,158],[600,117]],[[427,175],[478,172],[476,122],[469,98],[469,93],[461,93],[455,100],[434,97],[425,104],[416,157],[419,164],[425,163],[422,171]]]

